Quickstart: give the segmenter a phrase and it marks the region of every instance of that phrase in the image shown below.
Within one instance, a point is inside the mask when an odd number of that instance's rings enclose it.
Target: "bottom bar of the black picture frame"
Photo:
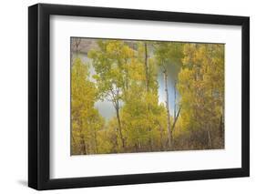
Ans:
[[[43,189],[76,189],[205,179],[234,179],[244,177],[248,177],[247,170],[244,168],[223,168],[104,177],[49,179]]]

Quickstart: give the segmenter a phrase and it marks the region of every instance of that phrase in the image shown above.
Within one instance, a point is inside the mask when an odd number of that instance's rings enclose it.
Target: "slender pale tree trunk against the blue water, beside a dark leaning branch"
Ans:
[[[168,75],[167,70],[163,71],[164,81],[165,81],[165,93],[166,93],[166,109],[167,109],[167,126],[168,126],[168,145],[171,148],[172,141],[172,131],[170,128],[170,120],[169,120],[169,93],[168,93]]]

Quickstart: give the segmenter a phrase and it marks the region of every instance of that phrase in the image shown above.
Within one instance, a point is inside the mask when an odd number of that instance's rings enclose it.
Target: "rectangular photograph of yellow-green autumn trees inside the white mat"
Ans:
[[[70,153],[225,148],[225,44],[70,37]]]

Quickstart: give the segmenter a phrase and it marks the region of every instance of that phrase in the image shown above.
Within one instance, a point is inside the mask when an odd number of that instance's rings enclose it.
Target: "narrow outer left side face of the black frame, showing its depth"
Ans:
[[[38,5],[28,7],[28,187],[38,187],[37,48]]]

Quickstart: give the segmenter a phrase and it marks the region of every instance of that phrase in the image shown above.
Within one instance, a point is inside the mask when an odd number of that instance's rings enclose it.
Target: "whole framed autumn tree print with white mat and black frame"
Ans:
[[[250,19],[28,8],[28,185],[250,174]]]

